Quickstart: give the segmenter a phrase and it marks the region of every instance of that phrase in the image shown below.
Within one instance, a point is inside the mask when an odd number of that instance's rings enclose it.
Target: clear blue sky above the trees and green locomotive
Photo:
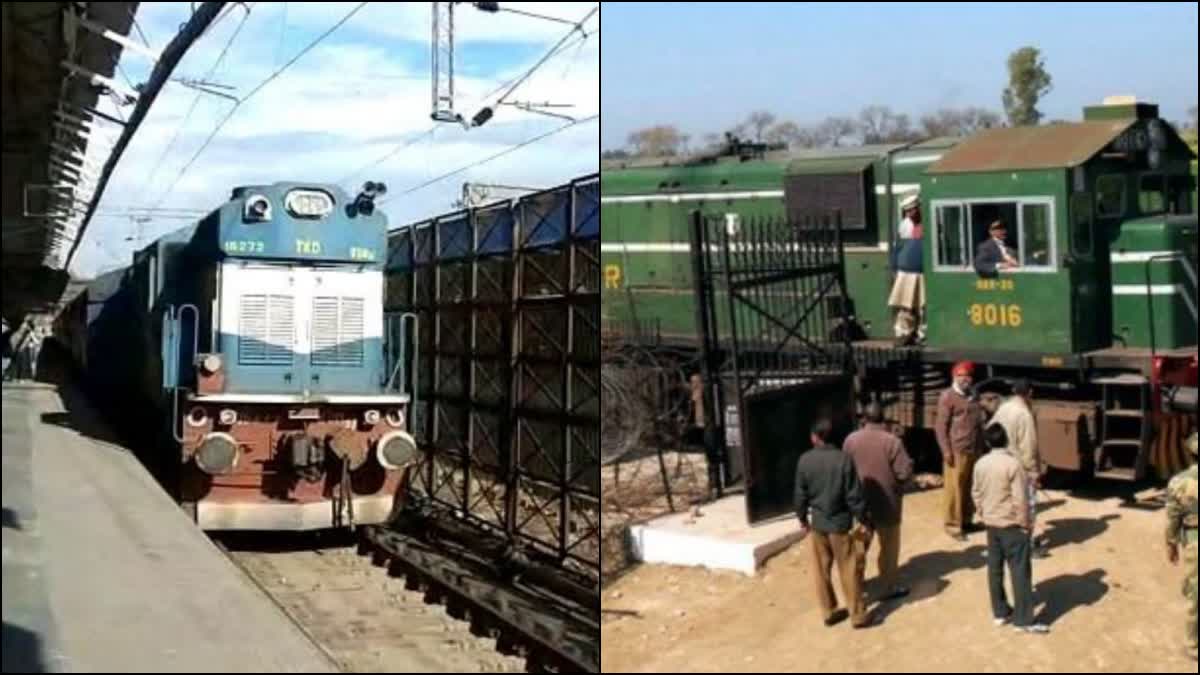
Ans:
[[[1002,112],[1006,60],[1042,49],[1049,118],[1134,94],[1182,120],[1196,103],[1196,2],[610,2],[601,145],[676,124],[722,131],[767,109],[799,124],[883,103]]]

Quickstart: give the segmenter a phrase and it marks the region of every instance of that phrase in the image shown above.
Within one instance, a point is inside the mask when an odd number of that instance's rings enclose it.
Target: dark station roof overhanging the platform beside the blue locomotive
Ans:
[[[138,2],[4,2],[4,316],[53,305],[62,269],[120,120],[101,96],[113,80]],[[139,46],[138,46],[139,47]],[[96,145],[100,144],[97,148]],[[84,159],[86,157],[86,162]]]

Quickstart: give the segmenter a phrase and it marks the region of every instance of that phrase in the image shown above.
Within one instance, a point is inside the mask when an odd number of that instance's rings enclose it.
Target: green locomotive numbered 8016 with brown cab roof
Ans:
[[[1124,100],[1085,108],[1079,123],[970,138],[798,153],[734,141],[703,157],[608,162],[604,319],[626,340],[694,348],[689,214],[737,227],[836,211],[840,300],[853,309],[869,378],[889,381],[914,354],[926,372],[972,359],[994,376],[1030,377],[1051,466],[1165,476],[1186,464],[1180,440],[1194,425],[1162,405],[1196,386],[1194,160],[1157,106]],[[911,195],[925,214],[928,340],[894,350],[893,249]],[[1020,267],[985,279],[973,255],[996,219],[1009,223]],[[866,358],[872,350],[892,360]],[[894,417],[930,429],[928,395],[898,392],[907,405]]]

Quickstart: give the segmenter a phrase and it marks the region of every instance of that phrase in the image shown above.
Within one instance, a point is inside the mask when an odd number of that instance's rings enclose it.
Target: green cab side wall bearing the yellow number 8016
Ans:
[[[971,199],[1052,197],[1051,209],[1058,265],[1066,251],[1066,172],[942,174],[926,179],[922,202],[932,225],[937,207]],[[986,223],[973,223],[985,228]],[[1068,274],[1020,271],[983,280],[973,268],[935,269],[936,229],[925,235],[929,344],[944,348],[1070,353],[1079,346],[1072,334],[1072,297]],[[972,249],[976,239],[972,238]],[[1081,350],[1080,350],[1081,351]]]

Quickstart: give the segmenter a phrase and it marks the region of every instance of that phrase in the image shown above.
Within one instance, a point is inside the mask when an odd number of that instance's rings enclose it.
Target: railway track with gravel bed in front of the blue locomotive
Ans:
[[[214,542],[342,670],[599,671],[577,595],[497,579],[469,550],[391,527]]]

